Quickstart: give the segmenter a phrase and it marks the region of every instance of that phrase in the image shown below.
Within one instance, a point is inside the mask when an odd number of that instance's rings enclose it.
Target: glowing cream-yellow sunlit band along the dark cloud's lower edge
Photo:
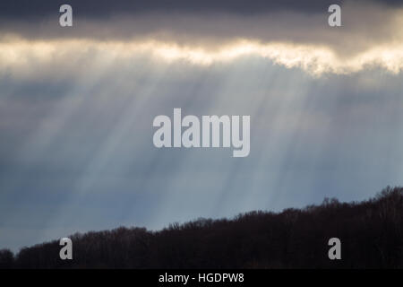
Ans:
[[[399,74],[403,68],[401,43],[375,46],[357,55],[340,58],[326,46],[278,42],[262,44],[250,40],[238,40],[216,49],[180,46],[157,40],[144,42],[14,40],[0,43],[0,69],[12,71],[11,73],[17,77],[27,77],[30,74],[37,74],[34,73],[34,69],[43,73],[39,66],[47,66],[51,69],[50,73],[72,69],[68,59],[73,56],[85,62],[101,64],[125,61],[140,55],[151,55],[167,63],[185,61],[192,65],[213,65],[230,62],[239,57],[257,56],[287,68],[301,68],[313,76],[351,74],[366,68],[382,68],[392,74]],[[55,64],[56,67],[50,67]]]

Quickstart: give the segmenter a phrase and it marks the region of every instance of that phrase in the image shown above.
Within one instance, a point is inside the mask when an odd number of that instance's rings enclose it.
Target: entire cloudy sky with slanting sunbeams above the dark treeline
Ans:
[[[2,1],[0,248],[403,185],[401,27],[399,1]],[[156,148],[175,108],[250,116],[249,156]]]

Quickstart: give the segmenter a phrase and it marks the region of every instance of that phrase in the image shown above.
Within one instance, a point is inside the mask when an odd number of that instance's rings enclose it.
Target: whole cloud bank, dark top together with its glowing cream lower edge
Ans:
[[[71,51],[107,58],[149,53],[195,65],[255,55],[316,76],[377,67],[396,74],[403,68],[403,9],[393,1],[343,2],[338,28],[328,26],[327,6],[316,1],[257,1],[243,4],[245,10],[236,8],[238,2],[219,3],[185,1],[164,10],[163,2],[120,1],[113,9],[73,2],[73,28],[59,27],[56,4],[39,2],[34,19],[21,18],[27,9],[3,7],[8,17],[0,25],[1,68],[32,59],[47,63]]]

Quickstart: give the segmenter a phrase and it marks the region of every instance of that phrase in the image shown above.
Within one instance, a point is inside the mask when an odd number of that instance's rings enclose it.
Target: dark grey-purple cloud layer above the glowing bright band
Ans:
[[[60,27],[60,4],[72,4],[73,27]],[[329,4],[342,7],[342,27],[328,25]],[[6,1],[0,41],[23,39],[157,39],[217,48],[237,39],[323,45],[351,56],[403,38],[398,1]],[[396,9],[395,9],[396,8]],[[368,29],[371,27],[371,29]]]

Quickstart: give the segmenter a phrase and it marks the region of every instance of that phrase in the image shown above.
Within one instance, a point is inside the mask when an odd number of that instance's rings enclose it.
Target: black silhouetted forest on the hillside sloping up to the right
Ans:
[[[328,240],[341,240],[341,260]],[[281,213],[199,219],[159,231],[124,227],[74,234],[73,260],[59,241],[0,250],[0,268],[403,268],[403,187],[361,203],[325,199]]]

